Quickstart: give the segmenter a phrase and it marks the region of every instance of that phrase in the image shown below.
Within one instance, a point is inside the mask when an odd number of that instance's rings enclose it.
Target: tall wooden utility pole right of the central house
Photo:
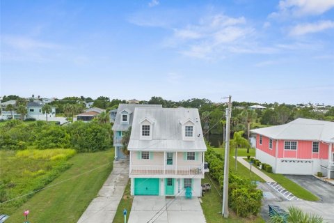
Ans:
[[[228,96],[228,108],[225,110],[226,116],[226,132],[225,132],[225,160],[224,160],[224,184],[223,184],[223,209],[221,211],[223,217],[228,217],[228,167],[230,154],[230,120],[232,114],[232,96]]]

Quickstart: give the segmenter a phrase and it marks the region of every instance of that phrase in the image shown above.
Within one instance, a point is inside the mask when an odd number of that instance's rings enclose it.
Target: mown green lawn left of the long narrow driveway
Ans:
[[[75,155],[69,160],[72,167],[49,184],[54,187],[35,194],[17,208],[6,223],[22,222],[22,213],[26,209],[30,210],[29,220],[33,223],[77,222],[113,169],[113,153],[111,149]]]

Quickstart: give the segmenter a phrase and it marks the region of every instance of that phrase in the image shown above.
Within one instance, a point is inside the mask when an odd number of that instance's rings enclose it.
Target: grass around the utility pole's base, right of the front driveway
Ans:
[[[210,180],[211,179],[211,180]],[[209,178],[209,174],[205,174],[205,178],[202,179],[202,183],[209,183],[212,185],[211,191],[206,192],[205,195],[202,197],[202,209],[205,215],[205,219],[207,223],[218,223],[218,222],[257,222],[262,223],[261,217],[250,217],[250,218],[239,218],[237,217],[232,210],[230,210],[230,214],[228,219],[225,219],[221,215],[221,208],[222,208],[222,197],[213,185],[216,185],[217,190],[219,190],[218,183],[212,178]]]

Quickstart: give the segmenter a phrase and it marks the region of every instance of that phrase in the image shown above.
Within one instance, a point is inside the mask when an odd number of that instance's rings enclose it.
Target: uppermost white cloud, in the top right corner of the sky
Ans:
[[[321,15],[334,7],[334,0],[281,0],[271,17]]]

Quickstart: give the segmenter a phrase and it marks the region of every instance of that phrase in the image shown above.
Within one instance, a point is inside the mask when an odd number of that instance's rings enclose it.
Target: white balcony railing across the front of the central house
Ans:
[[[173,174],[173,175],[199,175],[204,174],[203,165],[198,166],[164,166],[164,165],[130,165],[130,174]]]

